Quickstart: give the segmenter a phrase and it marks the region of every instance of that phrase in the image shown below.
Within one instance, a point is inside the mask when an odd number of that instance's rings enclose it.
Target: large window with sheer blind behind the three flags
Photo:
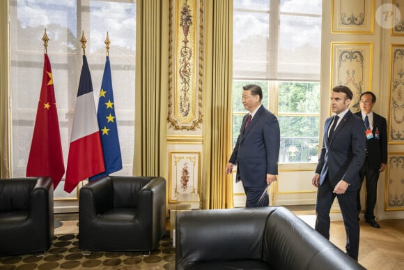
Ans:
[[[42,83],[46,28],[65,166],[82,66],[81,34],[93,82],[95,107],[104,71],[109,33],[109,57],[118,134],[123,158],[119,174],[132,174],[134,147],[134,63],[136,3],[127,0],[10,0],[10,84],[12,175],[23,177],[31,147]],[[58,189],[63,189],[60,183]]]

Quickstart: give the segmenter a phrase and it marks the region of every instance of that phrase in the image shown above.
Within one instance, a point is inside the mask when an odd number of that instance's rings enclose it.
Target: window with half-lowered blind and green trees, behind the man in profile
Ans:
[[[242,86],[258,84],[279,120],[279,163],[316,162],[321,0],[234,0],[233,8],[233,146],[247,113]]]

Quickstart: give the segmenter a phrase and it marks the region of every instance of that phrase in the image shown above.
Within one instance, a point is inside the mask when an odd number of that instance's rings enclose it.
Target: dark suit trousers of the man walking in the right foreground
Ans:
[[[344,194],[335,194],[328,176],[321,186],[318,186],[316,204],[316,231],[329,239],[329,211],[337,198],[341,209],[343,225],[346,233],[345,249],[347,254],[358,260],[359,253],[359,222],[357,220],[357,190],[345,191]]]

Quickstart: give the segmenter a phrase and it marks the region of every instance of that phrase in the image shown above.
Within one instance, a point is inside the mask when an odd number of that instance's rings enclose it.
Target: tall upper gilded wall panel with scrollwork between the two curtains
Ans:
[[[174,130],[196,130],[202,123],[203,0],[171,0],[169,29],[167,122]]]

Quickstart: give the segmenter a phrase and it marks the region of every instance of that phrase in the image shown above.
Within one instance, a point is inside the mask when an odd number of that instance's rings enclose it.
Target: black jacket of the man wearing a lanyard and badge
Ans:
[[[362,112],[357,112],[357,116],[362,119]],[[379,138],[376,138],[378,130]],[[366,140],[366,154],[368,164],[375,170],[380,168],[382,163],[387,164],[387,121],[384,117],[373,112],[373,138]]]

